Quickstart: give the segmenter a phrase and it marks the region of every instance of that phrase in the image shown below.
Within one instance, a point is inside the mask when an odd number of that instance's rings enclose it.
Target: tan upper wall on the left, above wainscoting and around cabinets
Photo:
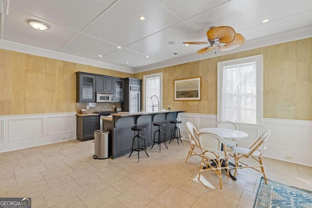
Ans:
[[[76,74],[133,74],[0,49],[0,115],[76,112]]]

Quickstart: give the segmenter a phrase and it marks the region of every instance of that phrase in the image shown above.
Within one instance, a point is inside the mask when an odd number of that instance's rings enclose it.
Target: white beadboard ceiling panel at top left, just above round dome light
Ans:
[[[10,0],[10,8],[80,31],[115,0]]]

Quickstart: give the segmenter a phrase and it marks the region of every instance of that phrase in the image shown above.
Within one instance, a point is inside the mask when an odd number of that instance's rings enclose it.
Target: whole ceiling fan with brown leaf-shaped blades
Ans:
[[[197,51],[197,54],[205,54],[215,48],[219,51],[229,51],[245,42],[244,36],[235,33],[234,29],[229,26],[211,27],[207,31],[207,42],[183,42],[184,44],[208,44],[208,47]]]

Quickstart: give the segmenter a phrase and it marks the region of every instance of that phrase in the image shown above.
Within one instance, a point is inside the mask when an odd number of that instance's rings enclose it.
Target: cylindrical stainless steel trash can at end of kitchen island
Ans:
[[[109,131],[97,130],[94,132],[94,159],[106,159],[108,155]]]

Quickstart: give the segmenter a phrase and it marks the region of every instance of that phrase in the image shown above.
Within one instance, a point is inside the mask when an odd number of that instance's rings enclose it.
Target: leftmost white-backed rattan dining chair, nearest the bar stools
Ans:
[[[196,130],[195,126],[191,123],[191,122],[186,122],[186,129],[187,132],[189,134],[189,140],[190,140],[190,149],[189,152],[186,156],[186,160],[185,163],[187,163],[187,160],[189,159],[189,157],[192,157],[194,155],[200,156],[200,147],[197,141],[197,134],[198,131]],[[197,150],[195,150],[195,148]]]

